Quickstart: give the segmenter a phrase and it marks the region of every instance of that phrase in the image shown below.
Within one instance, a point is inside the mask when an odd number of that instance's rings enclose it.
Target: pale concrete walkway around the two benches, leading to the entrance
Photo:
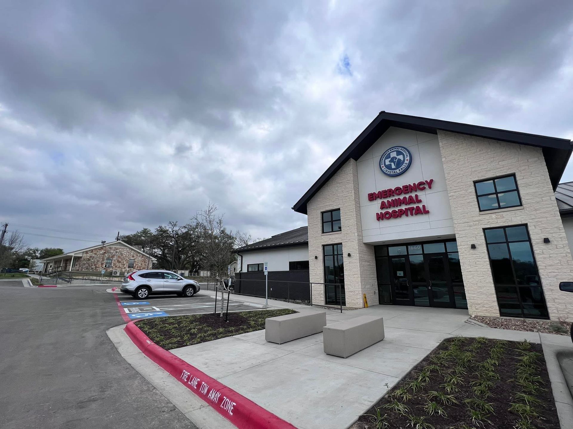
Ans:
[[[257,304],[261,301],[244,299]],[[269,304],[310,308],[274,300]],[[300,429],[342,429],[351,426],[446,337],[553,341],[562,346],[569,340],[470,325],[465,323],[468,312],[459,309],[376,305],[342,314],[328,309],[327,324],[363,315],[383,316],[386,338],[347,359],[324,354],[322,333],[272,344],[266,343],[265,331],[249,332],[171,352]],[[568,345],[571,347],[571,343]],[[573,404],[561,401],[559,415],[568,420],[567,412]],[[563,418],[562,427],[571,427],[563,424]]]

